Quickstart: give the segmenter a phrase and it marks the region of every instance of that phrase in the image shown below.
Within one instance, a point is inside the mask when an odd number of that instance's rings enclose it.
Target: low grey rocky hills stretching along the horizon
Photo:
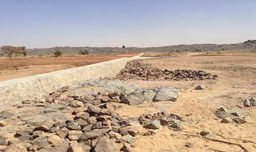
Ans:
[[[78,54],[81,50],[87,50],[90,54],[109,54],[109,53],[136,53],[136,52],[216,52],[216,51],[256,51],[255,40],[248,40],[244,43],[237,44],[180,44],[180,45],[169,45],[161,47],[53,47],[53,48],[41,48],[41,49],[28,49],[28,55],[52,55],[55,49],[61,50],[66,54]],[[0,50],[0,53],[4,53]]]

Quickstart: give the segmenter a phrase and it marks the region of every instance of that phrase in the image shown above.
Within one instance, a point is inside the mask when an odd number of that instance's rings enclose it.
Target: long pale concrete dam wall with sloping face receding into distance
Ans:
[[[125,67],[127,61],[141,58],[138,55],[0,82],[0,109],[21,103],[23,100],[42,97],[70,82],[114,77]]]

